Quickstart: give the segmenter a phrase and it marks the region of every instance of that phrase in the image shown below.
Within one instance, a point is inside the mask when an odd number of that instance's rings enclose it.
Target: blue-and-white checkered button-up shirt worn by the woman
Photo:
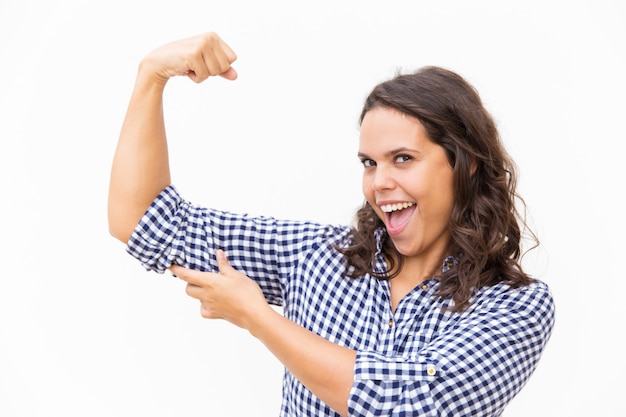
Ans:
[[[384,230],[375,238],[381,248]],[[345,276],[334,245],[347,226],[282,221],[195,207],[169,186],[127,247],[146,269],[175,263],[216,271],[215,248],[255,280],[295,323],[357,351],[351,416],[499,416],[524,386],[550,338],[554,303],[545,283],[475,291],[462,313],[445,311],[438,281],[413,289],[391,311],[389,282]],[[443,268],[450,267],[450,259]],[[379,271],[385,271],[380,254]],[[288,371],[281,416],[337,416]]]

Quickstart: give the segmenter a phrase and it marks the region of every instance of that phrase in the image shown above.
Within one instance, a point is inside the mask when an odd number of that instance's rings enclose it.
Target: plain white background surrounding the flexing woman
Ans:
[[[357,117],[396,70],[472,82],[520,169],[557,323],[506,417],[624,416],[624,3],[0,3],[0,416],[273,416],[282,368],[203,320],[109,236],[108,175],[139,60],[215,30],[236,82],[173,80],[174,182],[194,202],[352,220]]]

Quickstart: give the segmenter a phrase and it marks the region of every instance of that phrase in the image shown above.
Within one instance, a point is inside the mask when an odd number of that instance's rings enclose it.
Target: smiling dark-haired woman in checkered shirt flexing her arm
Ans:
[[[215,33],[143,59],[113,161],[112,235],[187,281],[203,317],[270,349],[286,368],[282,416],[500,415],[540,359],[554,304],[520,266],[513,163],[476,91],[436,67],[374,88],[355,228],[253,218],[170,184],[168,79],[234,80],[235,59]]]

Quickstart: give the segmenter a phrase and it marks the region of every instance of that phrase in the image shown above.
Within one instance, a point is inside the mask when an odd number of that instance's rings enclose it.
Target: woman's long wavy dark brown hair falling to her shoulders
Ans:
[[[454,206],[449,220],[450,255],[456,265],[439,276],[437,295],[452,297],[452,310],[470,305],[476,288],[506,282],[514,287],[533,281],[522,269],[522,230],[539,242],[516,208],[524,205],[516,192],[515,164],[478,92],[458,74],[440,67],[424,67],[377,85],[365,100],[359,123],[378,107],[395,109],[418,119],[430,140],[442,146],[453,168]],[[349,276],[369,273],[392,279],[403,256],[391,239],[383,243],[389,272],[375,271],[374,232],[384,228],[369,203],[358,210],[346,256]],[[442,259],[443,262],[443,259]]]

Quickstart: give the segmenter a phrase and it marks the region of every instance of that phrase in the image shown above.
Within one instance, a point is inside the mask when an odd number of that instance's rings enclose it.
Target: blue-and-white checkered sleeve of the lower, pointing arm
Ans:
[[[489,295],[418,355],[358,352],[351,416],[498,416],[550,338],[554,302],[535,283]]]

